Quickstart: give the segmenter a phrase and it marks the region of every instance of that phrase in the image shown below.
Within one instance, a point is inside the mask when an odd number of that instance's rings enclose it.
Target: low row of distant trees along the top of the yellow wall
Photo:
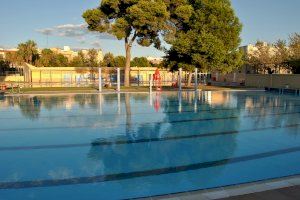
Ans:
[[[89,49],[87,54],[82,51],[73,59],[68,59],[60,53],[51,49],[43,49],[38,52],[37,44],[29,40],[18,45],[18,51],[9,52],[5,59],[0,59],[2,71],[7,71],[10,67],[20,66],[29,63],[37,67],[125,67],[126,59],[124,56],[114,56],[112,53],[104,55],[102,61],[98,59],[96,49]],[[131,61],[132,66],[136,67],[162,67],[159,64],[153,64],[146,57],[135,57]]]

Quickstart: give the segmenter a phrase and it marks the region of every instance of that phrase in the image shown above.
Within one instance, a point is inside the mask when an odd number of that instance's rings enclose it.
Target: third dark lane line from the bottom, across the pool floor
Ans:
[[[119,128],[122,126],[137,126],[137,125],[159,125],[159,124],[175,124],[175,123],[189,123],[189,122],[201,122],[201,121],[217,121],[217,120],[228,120],[228,119],[239,119],[239,118],[254,118],[254,117],[263,117],[263,116],[276,116],[276,115],[294,115],[294,114],[300,114],[300,112],[288,112],[288,113],[270,113],[270,114],[261,114],[261,115],[244,115],[244,116],[228,116],[228,117],[219,117],[219,118],[196,118],[196,119],[185,119],[185,120],[174,120],[174,121],[159,121],[159,122],[141,122],[141,123],[123,123],[123,124],[117,124],[115,125],[97,125],[93,126],[91,125],[82,125],[82,126],[54,126],[54,127],[22,127],[22,128],[8,128],[8,129],[0,129],[1,131],[7,132],[7,131],[35,131],[35,130],[54,130],[54,129],[75,129],[75,128]]]

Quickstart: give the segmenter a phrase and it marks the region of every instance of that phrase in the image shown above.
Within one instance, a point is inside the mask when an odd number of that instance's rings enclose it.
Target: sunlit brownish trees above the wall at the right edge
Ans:
[[[256,73],[281,73],[283,70],[300,74],[300,34],[294,33],[288,42],[273,44],[257,41],[255,50],[245,54],[245,63]]]

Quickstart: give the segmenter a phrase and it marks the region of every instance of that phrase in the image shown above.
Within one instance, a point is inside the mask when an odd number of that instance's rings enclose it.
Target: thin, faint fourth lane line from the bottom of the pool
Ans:
[[[189,105],[189,106],[182,106],[182,107],[192,107],[193,105]],[[158,114],[184,114],[184,113],[195,113],[195,114],[199,114],[200,112],[215,112],[215,111],[241,111],[241,110],[245,110],[245,111],[252,111],[252,110],[256,110],[256,109],[261,109],[261,108],[287,108],[288,106],[257,106],[257,107],[251,107],[251,108],[220,108],[220,109],[202,109],[202,110],[197,110],[197,112],[195,112],[195,110],[186,110],[186,111],[170,111],[170,112],[159,112]],[[300,105],[294,105],[293,107],[300,107]],[[1,112],[0,112],[1,113]],[[157,114],[155,112],[147,112],[147,113],[133,113],[131,114],[131,116],[136,116],[136,115],[153,115],[153,114]],[[91,115],[65,115],[65,116],[42,116],[42,117],[38,117],[38,119],[52,119],[52,118],[76,118],[76,117],[105,117],[105,116],[126,116],[126,113],[122,113],[122,114],[103,114],[103,115],[99,115],[99,114],[91,114]],[[5,117],[5,118],[0,118],[0,120],[17,120],[17,119],[24,119],[24,117]]]

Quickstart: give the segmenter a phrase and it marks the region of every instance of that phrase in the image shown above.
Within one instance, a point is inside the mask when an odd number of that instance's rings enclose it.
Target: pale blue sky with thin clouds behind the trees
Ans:
[[[0,48],[16,47],[28,39],[40,47],[101,48],[104,52],[124,55],[123,42],[107,35],[86,33],[82,13],[94,8],[99,0],[1,0]],[[243,23],[242,45],[267,42],[300,32],[299,0],[232,0]],[[135,45],[133,56],[162,56],[154,48]]]

